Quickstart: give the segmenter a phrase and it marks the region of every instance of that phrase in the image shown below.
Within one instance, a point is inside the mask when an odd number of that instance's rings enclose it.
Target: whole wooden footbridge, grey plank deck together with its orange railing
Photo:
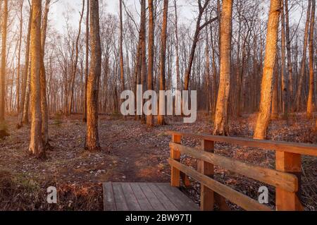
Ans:
[[[214,135],[196,135],[170,131],[171,180],[167,183],[104,183],[104,209],[130,211],[194,211],[199,210],[179,189],[180,181],[190,186],[188,176],[201,183],[200,209],[211,211],[217,204],[229,207],[225,200],[251,211],[271,211],[266,205],[213,179],[213,166],[221,166],[236,174],[275,187],[276,210],[303,210],[300,202],[302,155],[317,156],[317,145],[273,142]],[[201,150],[181,145],[181,138],[201,140]],[[215,142],[275,151],[275,169],[245,163],[213,153]],[[180,163],[181,154],[199,159],[197,170]]]

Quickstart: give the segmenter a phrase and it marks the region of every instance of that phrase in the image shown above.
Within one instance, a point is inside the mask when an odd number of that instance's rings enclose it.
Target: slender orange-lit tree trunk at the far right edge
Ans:
[[[315,26],[316,0],[311,0],[311,28],[309,32],[309,97],[307,101],[307,118],[313,118],[313,92],[314,92],[314,73],[313,73],[313,32]]]

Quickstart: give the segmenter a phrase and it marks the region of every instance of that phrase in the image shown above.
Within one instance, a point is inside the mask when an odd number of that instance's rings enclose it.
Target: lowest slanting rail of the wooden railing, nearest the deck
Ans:
[[[229,188],[228,186],[225,186],[222,183],[215,181],[204,174],[200,174],[194,169],[191,169],[188,166],[175,161],[174,159],[168,159],[168,162],[170,163],[170,165],[178,168],[180,171],[199,181],[201,185],[207,186],[211,190],[230,200],[230,202],[239,205],[243,209],[251,211],[271,211],[270,207],[262,205],[256,200],[251,199],[251,197],[243,195],[242,193],[239,193],[236,190],[233,190],[232,188]]]

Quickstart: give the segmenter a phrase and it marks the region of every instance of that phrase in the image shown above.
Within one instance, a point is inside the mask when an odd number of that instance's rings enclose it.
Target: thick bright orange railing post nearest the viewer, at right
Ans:
[[[298,178],[299,190],[297,193],[290,193],[281,188],[276,188],[275,205],[278,211],[302,211],[302,203],[300,202],[300,186],[302,172],[302,156],[291,152],[276,152],[275,166],[279,171],[294,174]]]

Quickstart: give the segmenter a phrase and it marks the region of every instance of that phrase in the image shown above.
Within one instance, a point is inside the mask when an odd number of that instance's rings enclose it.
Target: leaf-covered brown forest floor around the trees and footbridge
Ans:
[[[166,130],[192,133],[212,133],[213,122],[208,116],[199,116],[196,123],[182,123],[182,118],[168,118],[167,126],[147,128],[139,121],[119,116],[100,116],[99,139],[101,152],[87,152],[85,123],[80,115],[68,118],[51,116],[49,133],[51,150],[48,159],[40,161],[27,152],[30,126],[15,128],[16,117],[7,119],[10,136],[0,139],[0,210],[102,210],[101,183],[112,182],[169,182],[171,138]],[[255,115],[230,120],[230,135],[251,138]],[[313,131],[315,123],[297,114],[288,120],[272,121],[268,138],[317,144]],[[200,142],[190,138],[184,145],[197,147]],[[241,159],[244,162],[274,167],[274,152],[216,144],[216,153]],[[183,157],[182,162],[196,166],[194,159]],[[302,202],[306,210],[317,210],[317,159],[303,157]],[[263,183],[230,173],[216,167],[216,180],[257,199]],[[46,188],[58,190],[58,204],[46,202]],[[269,188],[269,205],[275,201],[275,190]],[[185,193],[199,203],[199,184]],[[230,204],[232,209],[240,209]]]

